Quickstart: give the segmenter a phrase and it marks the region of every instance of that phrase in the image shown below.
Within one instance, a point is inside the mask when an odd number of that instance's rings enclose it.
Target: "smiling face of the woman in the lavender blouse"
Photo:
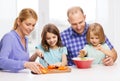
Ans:
[[[25,35],[29,35],[35,27],[36,24],[36,20],[33,18],[28,18],[26,20],[24,20],[23,22],[18,22],[18,26],[20,29],[20,32],[23,36]]]

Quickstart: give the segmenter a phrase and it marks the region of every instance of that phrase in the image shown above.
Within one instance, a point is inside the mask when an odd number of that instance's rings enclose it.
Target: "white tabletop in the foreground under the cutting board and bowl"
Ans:
[[[19,73],[0,71],[0,81],[120,81],[120,63],[113,66],[93,65],[89,69],[72,66],[70,73],[31,74],[29,70]]]

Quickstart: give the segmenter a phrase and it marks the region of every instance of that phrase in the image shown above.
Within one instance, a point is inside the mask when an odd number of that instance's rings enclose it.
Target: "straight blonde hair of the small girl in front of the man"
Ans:
[[[90,44],[90,32],[93,32],[94,35],[99,37],[101,44],[105,42],[104,30],[99,23],[93,23],[89,25],[86,35],[86,39],[89,44]]]

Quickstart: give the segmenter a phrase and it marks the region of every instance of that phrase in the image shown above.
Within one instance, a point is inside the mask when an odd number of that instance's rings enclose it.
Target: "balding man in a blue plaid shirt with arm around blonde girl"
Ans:
[[[88,30],[88,24],[85,22],[86,16],[80,7],[72,7],[67,12],[68,21],[71,27],[61,32],[61,39],[63,45],[68,50],[68,65],[74,65],[72,58],[77,57],[78,53],[87,44],[86,33]],[[103,59],[103,64],[106,66],[113,65],[117,59],[117,53],[112,44],[106,37],[105,43],[112,51],[113,57],[106,57]]]

